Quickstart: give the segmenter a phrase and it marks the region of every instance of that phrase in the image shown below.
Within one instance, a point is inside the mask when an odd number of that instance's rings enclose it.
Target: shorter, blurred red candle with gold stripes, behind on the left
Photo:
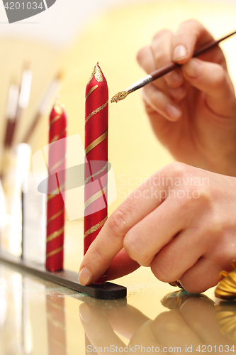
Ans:
[[[50,114],[48,191],[47,191],[47,244],[46,268],[48,271],[63,269],[64,201],[62,193],[65,178],[67,119],[60,104],[55,104]],[[61,140],[60,143],[57,142]],[[60,183],[58,179],[60,174]]]

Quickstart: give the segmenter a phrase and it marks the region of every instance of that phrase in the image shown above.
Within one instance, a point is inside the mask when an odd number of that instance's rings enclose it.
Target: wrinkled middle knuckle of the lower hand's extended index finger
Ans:
[[[124,207],[116,209],[116,211],[111,214],[107,223],[113,235],[123,237],[128,229],[130,229],[130,212]]]

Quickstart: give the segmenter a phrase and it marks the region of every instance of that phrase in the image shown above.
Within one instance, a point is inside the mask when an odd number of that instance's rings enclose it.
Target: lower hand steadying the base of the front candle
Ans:
[[[185,290],[201,293],[218,283],[220,271],[231,271],[235,206],[236,178],[169,164],[111,214],[84,256],[79,282],[142,265],[161,281],[180,279]]]

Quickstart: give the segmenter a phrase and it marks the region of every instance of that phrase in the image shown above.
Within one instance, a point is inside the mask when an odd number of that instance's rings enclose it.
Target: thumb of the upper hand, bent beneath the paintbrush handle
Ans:
[[[206,94],[206,104],[211,111],[220,116],[235,115],[234,88],[221,65],[192,58],[181,70],[186,81]]]

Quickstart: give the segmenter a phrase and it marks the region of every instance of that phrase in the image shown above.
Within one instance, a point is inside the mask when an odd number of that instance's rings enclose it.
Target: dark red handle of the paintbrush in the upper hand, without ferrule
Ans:
[[[198,48],[195,50],[193,53],[193,57],[198,57],[198,55],[201,55],[205,53],[207,50],[210,50],[218,43],[220,43],[222,40],[225,40],[226,38],[229,38],[231,35],[235,35],[236,31],[230,33],[229,35],[225,35],[223,38],[220,38],[219,40],[212,40],[209,43],[206,43],[206,45],[203,45],[201,48]],[[155,70],[154,72],[151,72],[151,77],[152,80],[157,80],[159,77],[163,77],[163,75],[166,75],[168,72],[172,72],[172,70],[177,69],[178,67],[181,67],[181,64],[177,64],[172,62],[171,64],[167,65],[166,67],[162,67],[161,69]]]

